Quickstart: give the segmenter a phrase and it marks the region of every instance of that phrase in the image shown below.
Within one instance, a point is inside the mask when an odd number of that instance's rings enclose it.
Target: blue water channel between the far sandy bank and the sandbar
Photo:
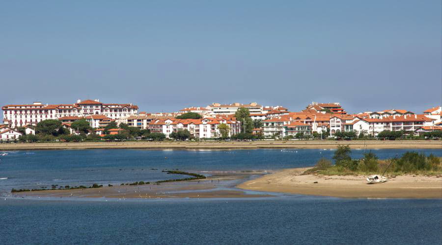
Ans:
[[[381,159],[403,154],[406,149],[372,150]],[[415,150],[442,156],[440,149]],[[334,150],[254,149],[254,150],[35,150],[13,151],[0,157],[0,196],[12,188],[40,188],[58,185],[119,184],[181,178],[161,172],[180,169],[190,172],[215,170],[275,170],[313,166]],[[361,157],[363,150],[353,150]],[[152,170],[155,169],[155,170]]]

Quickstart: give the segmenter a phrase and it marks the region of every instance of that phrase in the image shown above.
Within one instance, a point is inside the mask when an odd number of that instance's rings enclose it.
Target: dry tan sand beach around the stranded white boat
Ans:
[[[238,188],[291,194],[368,198],[442,198],[442,177],[402,175],[367,184],[365,176],[302,175],[308,168],[287,169],[249,180]],[[315,183],[317,182],[317,183]]]

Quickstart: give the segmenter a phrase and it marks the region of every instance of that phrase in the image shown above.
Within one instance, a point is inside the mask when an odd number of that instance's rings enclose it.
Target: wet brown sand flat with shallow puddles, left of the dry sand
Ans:
[[[57,198],[244,198],[265,197],[268,194],[249,194],[236,189],[235,185],[264,172],[212,172],[212,176],[202,180],[166,182],[160,185],[118,185],[103,188],[47,190],[14,193],[17,197],[57,197]]]

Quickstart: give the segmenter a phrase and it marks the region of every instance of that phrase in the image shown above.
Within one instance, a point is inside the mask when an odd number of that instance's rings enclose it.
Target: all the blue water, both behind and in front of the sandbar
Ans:
[[[373,150],[380,158],[404,149]],[[442,156],[439,149],[415,150]],[[360,157],[362,150],[353,150]],[[333,150],[16,151],[0,162],[1,244],[441,244],[442,200],[283,195],[256,199],[11,198],[12,188],[121,183],[312,166]],[[159,169],[159,170],[152,170]]]

